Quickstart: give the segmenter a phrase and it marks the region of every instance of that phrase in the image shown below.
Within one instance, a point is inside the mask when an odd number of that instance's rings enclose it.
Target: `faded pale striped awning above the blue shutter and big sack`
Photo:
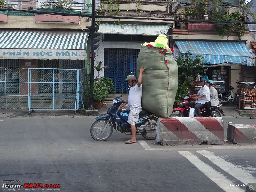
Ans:
[[[116,25],[100,23],[97,33],[127,35],[166,35],[170,25]]]

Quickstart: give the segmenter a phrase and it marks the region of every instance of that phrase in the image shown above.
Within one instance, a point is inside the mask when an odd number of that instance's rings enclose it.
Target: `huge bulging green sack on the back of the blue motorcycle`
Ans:
[[[141,67],[145,68],[142,74],[142,108],[159,117],[169,118],[178,89],[178,65],[172,51],[168,49],[165,56],[158,47],[141,46],[137,77]]]

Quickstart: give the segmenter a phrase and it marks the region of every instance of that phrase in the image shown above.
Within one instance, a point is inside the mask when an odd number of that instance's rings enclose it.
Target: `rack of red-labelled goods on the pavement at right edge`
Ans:
[[[237,82],[237,92],[239,92],[239,105],[237,108],[243,110],[253,110],[256,108],[256,94],[253,91],[255,82]]]

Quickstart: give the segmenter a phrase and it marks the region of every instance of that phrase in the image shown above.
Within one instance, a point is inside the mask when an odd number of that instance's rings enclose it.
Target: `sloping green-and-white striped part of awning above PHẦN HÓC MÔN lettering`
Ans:
[[[88,32],[0,31],[0,49],[86,49]]]

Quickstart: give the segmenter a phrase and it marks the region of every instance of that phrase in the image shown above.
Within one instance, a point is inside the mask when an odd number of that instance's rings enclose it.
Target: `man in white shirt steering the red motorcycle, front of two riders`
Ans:
[[[202,87],[200,88],[197,94],[191,95],[191,97],[193,97],[194,100],[197,99],[197,101],[191,102],[189,105],[189,107],[195,108],[196,117],[201,117],[200,110],[201,108],[206,107],[206,103],[208,105],[210,104],[210,89],[206,85],[207,80],[205,78],[202,78],[199,82],[201,82]]]

